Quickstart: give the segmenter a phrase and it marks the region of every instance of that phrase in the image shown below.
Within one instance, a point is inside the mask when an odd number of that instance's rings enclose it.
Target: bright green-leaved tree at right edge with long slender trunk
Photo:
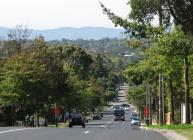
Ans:
[[[186,104],[186,123],[190,123],[190,95],[189,95],[189,56],[193,53],[192,36],[186,35],[180,29],[174,30],[171,34],[162,38],[162,45],[168,47],[163,49],[165,55],[173,55],[184,60],[184,88]],[[167,51],[166,51],[167,50]],[[169,68],[168,68],[169,69]]]

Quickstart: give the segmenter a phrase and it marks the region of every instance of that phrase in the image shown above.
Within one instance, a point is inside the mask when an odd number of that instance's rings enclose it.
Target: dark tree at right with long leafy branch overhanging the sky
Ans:
[[[186,40],[181,40],[181,54],[184,57],[184,89],[185,89],[185,104],[186,104],[186,123],[190,123],[190,108],[189,108],[189,55],[191,54],[191,34],[192,32],[192,2],[185,0],[131,0],[130,19],[123,19],[112,13],[103,4],[103,11],[108,15],[115,25],[120,25],[125,28],[132,36],[137,38],[159,38],[164,32],[163,27],[170,25],[170,15],[173,16],[174,22],[182,26]],[[155,15],[159,16],[160,28],[152,26],[151,21]],[[185,42],[184,42],[185,41]],[[174,43],[175,44],[175,43]],[[178,43],[177,43],[178,44]],[[161,91],[161,90],[160,90]]]

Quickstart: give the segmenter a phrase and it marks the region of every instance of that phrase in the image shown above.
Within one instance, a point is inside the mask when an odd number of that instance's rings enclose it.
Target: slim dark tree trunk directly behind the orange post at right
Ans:
[[[172,83],[172,74],[170,73],[170,91],[171,91],[171,122],[174,123],[175,122],[175,118],[174,118],[174,87],[173,87],[173,83]]]

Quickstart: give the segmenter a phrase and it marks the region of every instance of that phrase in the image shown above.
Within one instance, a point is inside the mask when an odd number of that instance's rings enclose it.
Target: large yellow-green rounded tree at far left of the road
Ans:
[[[0,97],[3,105],[14,104],[23,109],[23,115],[27,109],[30,113],[37,111],[39,118],[39,111],[49,104],[50,98],[60,102],[66,97],[67,75],[55,48],[47,48],[39,39],[34,44],[35,51],[26,48],[6,59]]]

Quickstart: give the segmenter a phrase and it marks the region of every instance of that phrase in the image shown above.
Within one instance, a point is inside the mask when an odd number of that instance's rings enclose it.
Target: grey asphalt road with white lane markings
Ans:
[[[123,98],[123,97],[121,97]],[[119,100],[118,102],[121,102]],[[113,121],[112,111],[101,120],[90,121],[86,128],[17,128],[0,127],[0,140],[166,140],[159,133],[131,127],[126,121]]]

